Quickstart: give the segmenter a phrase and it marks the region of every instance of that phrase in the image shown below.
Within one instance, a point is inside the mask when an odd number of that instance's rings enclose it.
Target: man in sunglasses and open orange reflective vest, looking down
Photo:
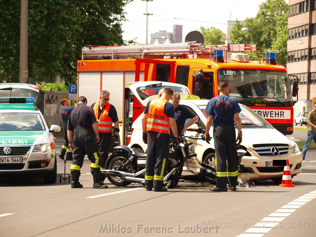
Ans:
[[[94,111],[95,118],[98,121],[98,130],[100,141],[98,143],[99,152],[102,156],[101,169],[105,168],[105,163],[108,158],[108,149],[113,142],[119,141],[119,119],[116,109],[109,103],[110,93],[106,90],[101,91],[100,101],[91,105]],[[114,123],[113,138],[112,138],[112,123]],[[106,178],[106,174],[101,173],[101,181]]]

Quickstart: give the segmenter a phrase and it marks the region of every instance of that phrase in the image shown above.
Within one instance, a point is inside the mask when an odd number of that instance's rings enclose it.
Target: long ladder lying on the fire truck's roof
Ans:
[[[256,45],[228,44],[205,46],[196,41],[175,43],[167,45],[133,45],[133,46],[87,46],[82,48],[82,60],[102,59],[103,57],[134,58],[144,55],[181,56],[189,54],[210,54],[214,49],[226,50],[227,52],[256,51]]]

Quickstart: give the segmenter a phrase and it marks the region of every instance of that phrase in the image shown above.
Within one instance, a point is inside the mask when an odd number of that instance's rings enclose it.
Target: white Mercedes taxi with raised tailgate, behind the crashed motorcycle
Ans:
[[[195,112],[199,119],[187,129],[185,136],[198,137],[205,133],[207,117],[205,109],[209,100],[200,100],[197,96],[186,96],[186,98],[181,96],[180,104]],[[297,144],[277,131],[256,112],[244,105],[239,105],[243,134],[241,148],[246,151],[241,160],[239,178],[242,181],[247,181],[248,178],[252,180],[272,179],[274,182],[281,183],[284,166],[280,166],[278,161],[286,159],[289,159],[292,176],[301,173],[302,155]],[[129,146],[146,151],[147,145],[142,140],[141,117],[142,115],[132,125],[134,130]],[[186,123],[190,120],[187,119]],[[213,136],[213,125],[210,128],[210,136]],[[195,152],[200,161],[216,166],[214,139],[211,139],[210,144],[190,138],[188,141],[195,146]],[[188,165],[192,170],[200,170],[200,165],[194,159],[188,160]]]

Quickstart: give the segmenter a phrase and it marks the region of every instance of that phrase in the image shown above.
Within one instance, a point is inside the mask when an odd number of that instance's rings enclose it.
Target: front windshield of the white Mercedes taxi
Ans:
[[[205,113],[206,105],[198,106],[204,116],[207,118]],[[246,106],[240,105],[241,112],[239,113],[240,121],[242,126],[256,126],[256,127],[271,127],[261,116],[247,108]]]

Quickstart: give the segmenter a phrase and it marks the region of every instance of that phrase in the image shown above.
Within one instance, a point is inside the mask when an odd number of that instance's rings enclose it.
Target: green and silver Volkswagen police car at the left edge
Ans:
[[[0,97],[0,176],[40,175],[55,183],[56,144],[33,97]]]

